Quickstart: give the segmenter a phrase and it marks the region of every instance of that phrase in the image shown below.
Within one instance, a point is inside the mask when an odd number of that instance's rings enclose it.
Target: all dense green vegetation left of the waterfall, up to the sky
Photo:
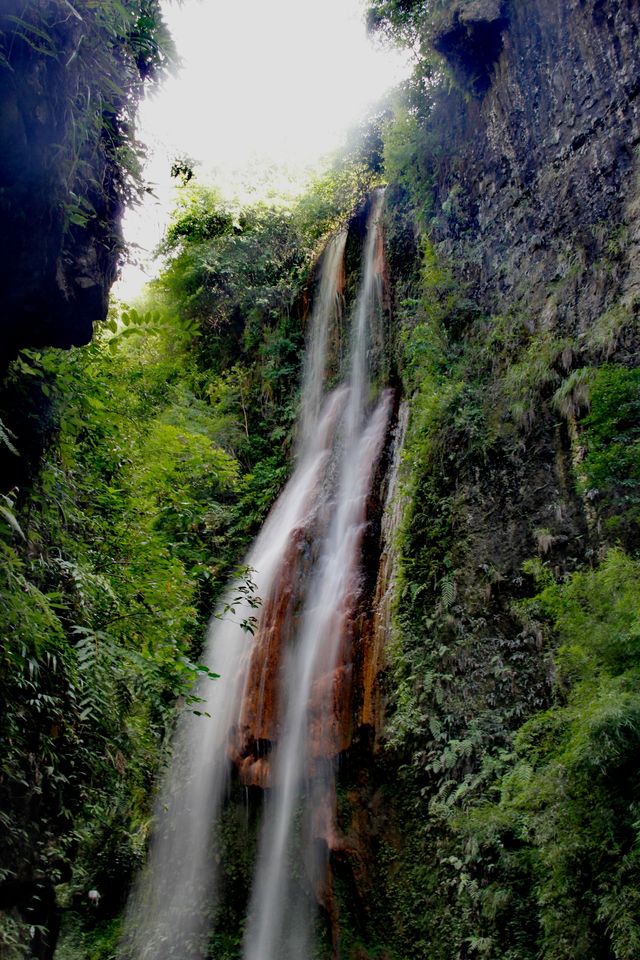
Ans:
[[[9,369],[49,440],[0,504],[3,956],[49,955],[61,906],[63,952],[114,949],[176,698],[198,711],[207,620],[288,473],[318,243],[370,183],[338,169],[293,212],[182,188],[146,302]]]

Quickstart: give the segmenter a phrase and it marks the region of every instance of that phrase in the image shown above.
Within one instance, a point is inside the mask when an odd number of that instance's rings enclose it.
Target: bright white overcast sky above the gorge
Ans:
[[[229,195],[246,196],[251,185],[264,191],[274,166],[288,168],[280,185],[299,181],[407,73],[400,54],[369,41],[362,0],[163,6],[183,66],[141,106],[138,138],[149,150],[146,175],[157,199],[125,220],[147,275],[172,206],[173,157],[198,161],[198,178]],[[277,187],[278,175],[270,176]],[[127,267],[114,292],[133,297],[145,279]]]

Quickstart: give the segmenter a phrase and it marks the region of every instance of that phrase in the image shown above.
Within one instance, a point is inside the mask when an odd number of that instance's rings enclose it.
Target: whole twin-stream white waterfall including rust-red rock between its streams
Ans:
[[[246,563],[261,598],[212,621],[204,716],[183,713],[158,794],[149,865],[129,909],[136,960],[205,955],[216,903],[212,842],[229,783],[265,791],[244,960],[305,960],[321,905],[337,925],[329,875],[335,848],[334,766],[344,749],[353,621],[361,593],[367,500],[388,433],[392,395],[371,397],[369,352],[381,319],[382,193],[372,201],[352,314],[345,382],[325,394],[330,328],[340,313],[346,233],[329,243],[310,321],[298,461]],[[375,334],[375,336],[374,336]],[[312,896],[305,892],[310,888]]]

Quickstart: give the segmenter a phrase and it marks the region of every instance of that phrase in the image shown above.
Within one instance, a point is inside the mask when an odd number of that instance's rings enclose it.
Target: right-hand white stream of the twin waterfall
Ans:
[[[274,791],[265,809],[254,889],[249,909],[244,960],[294,960],[307,949],[308,919],[300,883],[291,872],[294,820],[309,777],[310,703],[313,688],[330,688],[331,674],[348,640],[349,616],[359,587],[360,546],[366,522],[366,500],[372,471],[386,434],[391,397],[385,393],[374,413],[366,417],[369,380],[369,328],[379,300],[381,276],[376,269],[378,217],[382,196],[374,200],[363,257],[363,279],[356,301],[351,336],[349,397],[337,460],[337,486],[331,502],[332,521],[322,544],[317,570],[305,605],[295,647],[285,671],[286,713],[274,765]],[[327,682],[328,680],[328,682]],[[321,724],[331,722],[332,704],[322,704]],[[327,736],[326,731],[323,731]],[[322,735],[322,734],[321,734]],[[311,773],[333,781],[333,765],[320,764]],[[317,784],[314,785],[317,787]],[[309,795],[313,789],[308,787]],[[326,789],[318,791],[326,796]],[[303,831],[309,831],[310,824]],[[303,839],[307,850],[313,837]],[[316,874],[320,865],[312,864]],[[304,956],[304,953],[302,954]]]

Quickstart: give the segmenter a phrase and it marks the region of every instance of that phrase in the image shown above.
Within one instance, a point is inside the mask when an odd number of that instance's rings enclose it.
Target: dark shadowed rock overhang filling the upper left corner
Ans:
[[[87,343],[106,316],[136,189],[133,112],[162,33],[154,4],[2,4],[2,364]]]

